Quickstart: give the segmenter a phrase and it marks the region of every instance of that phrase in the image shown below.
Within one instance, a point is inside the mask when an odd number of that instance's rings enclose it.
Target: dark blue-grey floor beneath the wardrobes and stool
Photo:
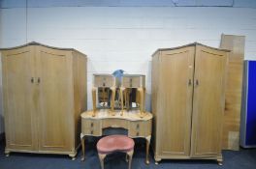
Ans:
[[[88,142],[87,142],[88,143]],[[72,161],[67,155],[34,155],[12,153],[9,157],[4,155],[4,143],[0,144],[0,169],[99,169],[100,162],[95,142],[89,141],[86,146],[86,159],[80,161],[80,154]],[[150,164],[144,164],[144,140],[136,140],[135,154],[132,161],[133,169],[161,168],[161,169],[256,169],[256,149],[223,151],[223,166],[218,166],[214,160],[162,160],[155,165],[150,154]],[[115,153],[105,159],[106,169],[128,168],[125,155]]]

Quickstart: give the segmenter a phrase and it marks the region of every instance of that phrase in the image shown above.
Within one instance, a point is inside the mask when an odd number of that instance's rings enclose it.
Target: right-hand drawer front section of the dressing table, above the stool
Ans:
[[[151,135],[152,121],[136,121],[129,123],[129,133],[130,137],[146,137]]]

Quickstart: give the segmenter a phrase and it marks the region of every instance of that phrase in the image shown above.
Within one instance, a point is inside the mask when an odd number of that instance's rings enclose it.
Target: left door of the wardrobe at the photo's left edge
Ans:
[[[37,150],[34,49],[2,52],[6,151]]]

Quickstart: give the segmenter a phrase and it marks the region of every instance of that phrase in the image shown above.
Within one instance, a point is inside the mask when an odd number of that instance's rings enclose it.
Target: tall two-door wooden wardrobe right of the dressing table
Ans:
[[[158,49],[152,56],[153,150],[161,159],[216,159],[228,50],[201,43]]]

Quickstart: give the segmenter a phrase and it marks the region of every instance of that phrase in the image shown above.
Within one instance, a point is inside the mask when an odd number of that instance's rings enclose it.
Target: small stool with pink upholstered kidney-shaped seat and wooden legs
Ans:
[[[125,135],[109,135],[101,138],[97,143],[101,167],[104,169],[104,158],[113,152],[123,152],[129,156],[129,169],[131,169],[134,152],[134,140]]]

